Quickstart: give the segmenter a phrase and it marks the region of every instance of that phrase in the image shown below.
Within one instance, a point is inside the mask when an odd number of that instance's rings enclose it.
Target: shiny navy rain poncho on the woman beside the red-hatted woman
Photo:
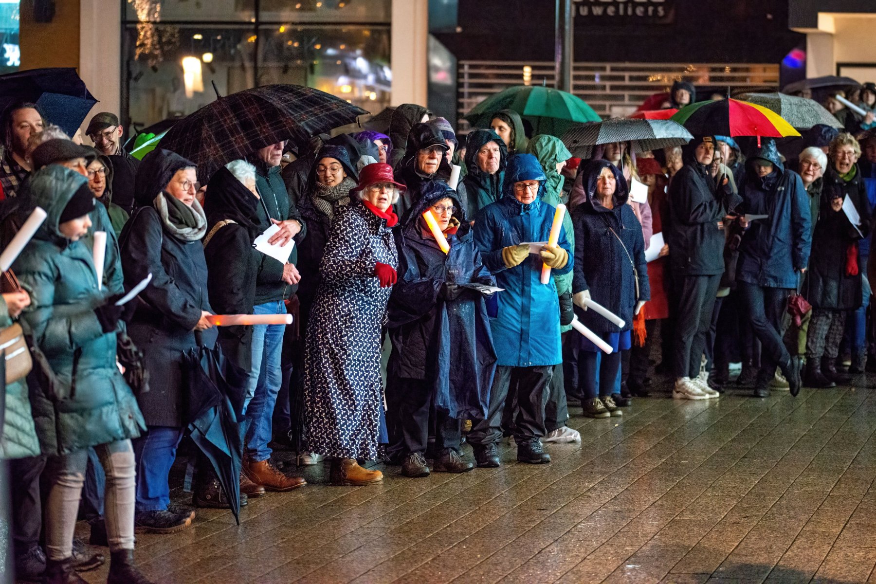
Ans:
[[[420,229],[420,215],[444,197],[454,200],[460,222],[456,235],[448,237],[448,254]],[[412,209],[407,221],[393,230],[399,281],[392,286],[388,306],[389,375],[431,380],[435,407],[452,418],[484,419],[496,370],[484,298],[466,290],[448,302],[439,292],[444,283],[494,285],[495,280],[481,263],[456,192],[445,182],[424,185]]]

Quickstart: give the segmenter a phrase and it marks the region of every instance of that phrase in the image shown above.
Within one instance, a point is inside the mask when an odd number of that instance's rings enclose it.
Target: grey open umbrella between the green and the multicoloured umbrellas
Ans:
[[[590,158],[597,144],[630,142],[632,151],[644,152],[668,146],[681,146],[693,139],[690,132],[680,123],[670,120],[633,119],[613,117],[597,123],[585,123],[570,128],[562,135],[573,156]]]

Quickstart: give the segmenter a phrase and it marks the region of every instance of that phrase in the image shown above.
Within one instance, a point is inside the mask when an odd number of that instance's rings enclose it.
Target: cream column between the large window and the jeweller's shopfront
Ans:
[[[428,0],[392,0],[392,105],[426,105],[428,33]]]

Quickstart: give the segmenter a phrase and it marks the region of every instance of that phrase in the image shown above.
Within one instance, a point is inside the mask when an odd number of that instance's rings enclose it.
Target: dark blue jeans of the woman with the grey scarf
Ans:
[[[137,506],[143,511],[164,511],[170,503],[167,476],[182,439],[182,428],[149,426],[142,436],[131,440],[137,458]]]

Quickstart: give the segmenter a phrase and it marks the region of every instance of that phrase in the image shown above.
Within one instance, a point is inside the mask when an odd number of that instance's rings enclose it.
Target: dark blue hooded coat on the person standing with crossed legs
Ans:
[[[756,158],[771,162],[774,171],[760,178],[752,168]],[[774,140],[748,158],[742,208],[752,215],[769,215],[752,222],[739,245],[736,279],[772,288],[796,288],[797,274],[809,264],[812,245],[809,195],[800,175],[781,164]],[[671,250],[671,248],[670,248]]]

